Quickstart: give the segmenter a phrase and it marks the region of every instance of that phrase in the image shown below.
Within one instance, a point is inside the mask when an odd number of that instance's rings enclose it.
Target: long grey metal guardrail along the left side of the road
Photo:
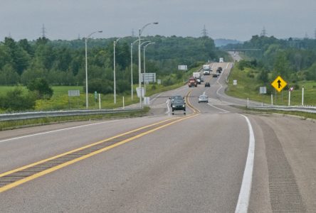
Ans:
[[[21,112],[21,113],[12,113],[12,114],[0,114],[0,121],[38,119],[38,118],[58,117],[58,116],[117,114],[117,113],[123,113],[123,112],[139,111],[141,109],[142,108]]]

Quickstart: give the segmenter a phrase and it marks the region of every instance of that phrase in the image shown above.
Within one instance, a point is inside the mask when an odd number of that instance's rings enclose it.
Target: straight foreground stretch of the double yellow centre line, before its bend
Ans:
[[[12,182],[12,183],[9,184],[9,185],[5,185],[4,187],[0,187],[0,193],[1,193],[1,192],[4,192],[4,191],[6,191],[6,190],[9,190],[9,189],[11,189],[11,188],[13,188],[13,187],[16,187],[16,186],[18,186],[18,185],[21,185],[21,184],[23,184],[24,182],[28,182],[28,181],[30,181],[30,180],[34,180],[34,179],[39,178],[39,177],[41,177],[41,176],[43,176],[43,175],[46,175],[46,174],[48,174],[48,173],[52,173],[52,172],[55,171],[55,170],[58,170],[58,169],[60,169],[60,168],[64,168],[64,167],[67,166],[67,165],[71,165],[71,164],[76,163],[76,162],[78,162],[78,161],[80,161],[80,160],[83,160],[83,159],[85,159],[85,158],[89,158],[89,157],[91,157],[91,156],[93,156],[93,155],[96,155],[96,154],[98,154],[98,153],[102,153],[102,152],[104,152],[104,151],[110,150],[111,148],[115,148],[115,147],[120,146],[120,145],[122,145],[122,144],[124,144],[124,143],[127,143],[127,142],[129,142],[129,141],[132,141],[132,140],[134,140],[134,139],[136,139],[136,138],[140,138],[140,137],[142,137],[142,136],[144,136],[144,135],[147,135],[148,133],[152,133],[152,132],[157,131],[157,130],[159,130],[159,129],[162,129],[162,128],[166,127],[166,126],[170,126],[170,125],[175,124],[175,123],[177,123],[177,122],[179,122],[179,121],[183,121],[183,120],[185,120],[185,119],[189,119],[189,118],[194,117],[194,116],[197,116],[197,115],[198,115],[198,114],[192,114],[191,116],[186,116],[186,117],[184,117],[184,118],[182,118],[182,119],[176,119],[175,121],[172,121],[172,122],[170,122],[170,123],[168,123],[168,124],[164,124],[164,125],[162,125],[162,126],[158,126],[157,128],[151,129],[151,130],[146,131],[146,132],[144,132],[144,133],[139,133],[137,136],[133,136],[133,137],[131,137],[131,138],[127,138],[127,139],[125,139],[124,141],[120,141],[120,142],[118,142],[118,143],[112,144],[111,146],[107,146],[107,147],[102,148],[102,149],[100,149],[100,150],[98,150],[98,151],[94,151],[93,153],[89,153],[89,154],[87,154],[87,155],[83,155],[83,156],[81,156],[81,157],[79,157],[79,158],[76,158],[76,159],[74,159],[74,160],[70,160],[70,161],[68,161],[68,162],[66,162],[66,163],[62,163],[62,164],[60,164],[60,165],[56,165],[56,166],[54,166],[53,168],[49,168],[49,169],[47,169],[47,170],[43,170],[43,171],[41,171],[40,173],[36,173],[36,174],[34,174],[34,175],[28,176],[27,178],[23,178],[23,179],[18,180],[18,181],[16,181],[16,182]],[[169,120],[173,120],[173,119],[167,119],[167,120],[164,120],[164,121],[169,121]],[[149,127],[149,126],[154,126],[154,125],[157,125],[157,124],[161,124],[161,123],[163,123],[164,121],[160,121],[160,122],[157,122],[156,124],[151,124],[151,125],[148,125],[148,126],[144,126],[144,127],[142,127],[142,128],[135,129],[135,130],[133,130],[133,131],[129,131],[129,132],[127,132],[127,133],[132,133],[132,132],[135,132],[135,131],[137,131],[137,130],[140,130],[140,129],[144,129],[144,128],[146,128],[146,127]],[[122,134],[120,134],[119,136],[124,136],[124,135],[127,134],[127,133],[122,133]],[[114,137],[112,137],[112,138],[117,138],[117,137],[119,137],[119,136],[114,136]],[[87,148],[87,147],[93,146],[93,145],[98,144],[98,143],[103,143],[103,142],[105,142],[105,141],[109,141],[109,140],[112,139],[112,138],[107,138],[107,139],[105,139],[105,140],[103,140],[103,141],[99,141],[99,142],[97,142],[97,143],[93,143],[93,144],[91,144],[91,145],[89,145],[89,146],[84,146],[84,147],[82,147],[82,148],[78,148],[78,149],[76,149],[75,151],[82,150],[83,148]],[[73,153],[73,152],[74,152],[74,151],[70,151],[70,152],[68,152],[68,153]],[[11,171],[9,171],[9,172],[7,172],[7,173],[1,174],[0,177],[4,176],[4,174],[8,175],[8,174],[14,173],[14,172],[16,172],[16,171],[23,170],[24,168],[30,168],[30,167],[33,166],[33,165],[38,165],[39,163],[43,163],[43,162],[46,162],[46,161],[48,161],[48,160],[52,160],[52,159],[58,158],[58,157],[60,157],[60,156],[66,155],[66,154],[68,154],[68,153],[63,153],[63,154],[60,154],[60,155],[56,155],[56,156],[54,156],[54,157],[52,157],[52,158],[48,158],[48,159],[46,159],[46,160],[41,160],[41,161],[38,161],[37,163],[32,163],[31,165],[26,165],[26,166],[24,166],[24,167],[22,167],[22,168],[18,168],[18,169],[16,169],[16,170],[11,170]]]

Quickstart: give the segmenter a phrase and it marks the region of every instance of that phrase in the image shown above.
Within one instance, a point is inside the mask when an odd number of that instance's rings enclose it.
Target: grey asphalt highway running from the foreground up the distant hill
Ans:
[[[144,117],[1,131],[0,212],[315,212],[315,121],[234,107],[211,65]]]

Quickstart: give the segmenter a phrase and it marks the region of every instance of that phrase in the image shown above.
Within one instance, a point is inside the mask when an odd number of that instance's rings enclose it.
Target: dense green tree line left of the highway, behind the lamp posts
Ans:
[[[211,38],[156,35],[144,39],[156,43],[146,49],[146,67],[148,72],[156,72],[158,76],[177,72],[178,65],[191,67],[196,61],[216,58]],[[108,90],[113,81],[113,40],[115,38],[88,40],[88,80],[102,81],[109,85]],[[134,40],[137,38],[122,38],[116,45],[117,84],[130,82],[130,43]],[[134,50],[133,78],[138,82],[137,43]],[[15,41],[4,38],[0,44],[0,84],[27,85],[38,77],[51,85],[84,85],[85,39]],[[121,90],[119,92],[125,91]]]

